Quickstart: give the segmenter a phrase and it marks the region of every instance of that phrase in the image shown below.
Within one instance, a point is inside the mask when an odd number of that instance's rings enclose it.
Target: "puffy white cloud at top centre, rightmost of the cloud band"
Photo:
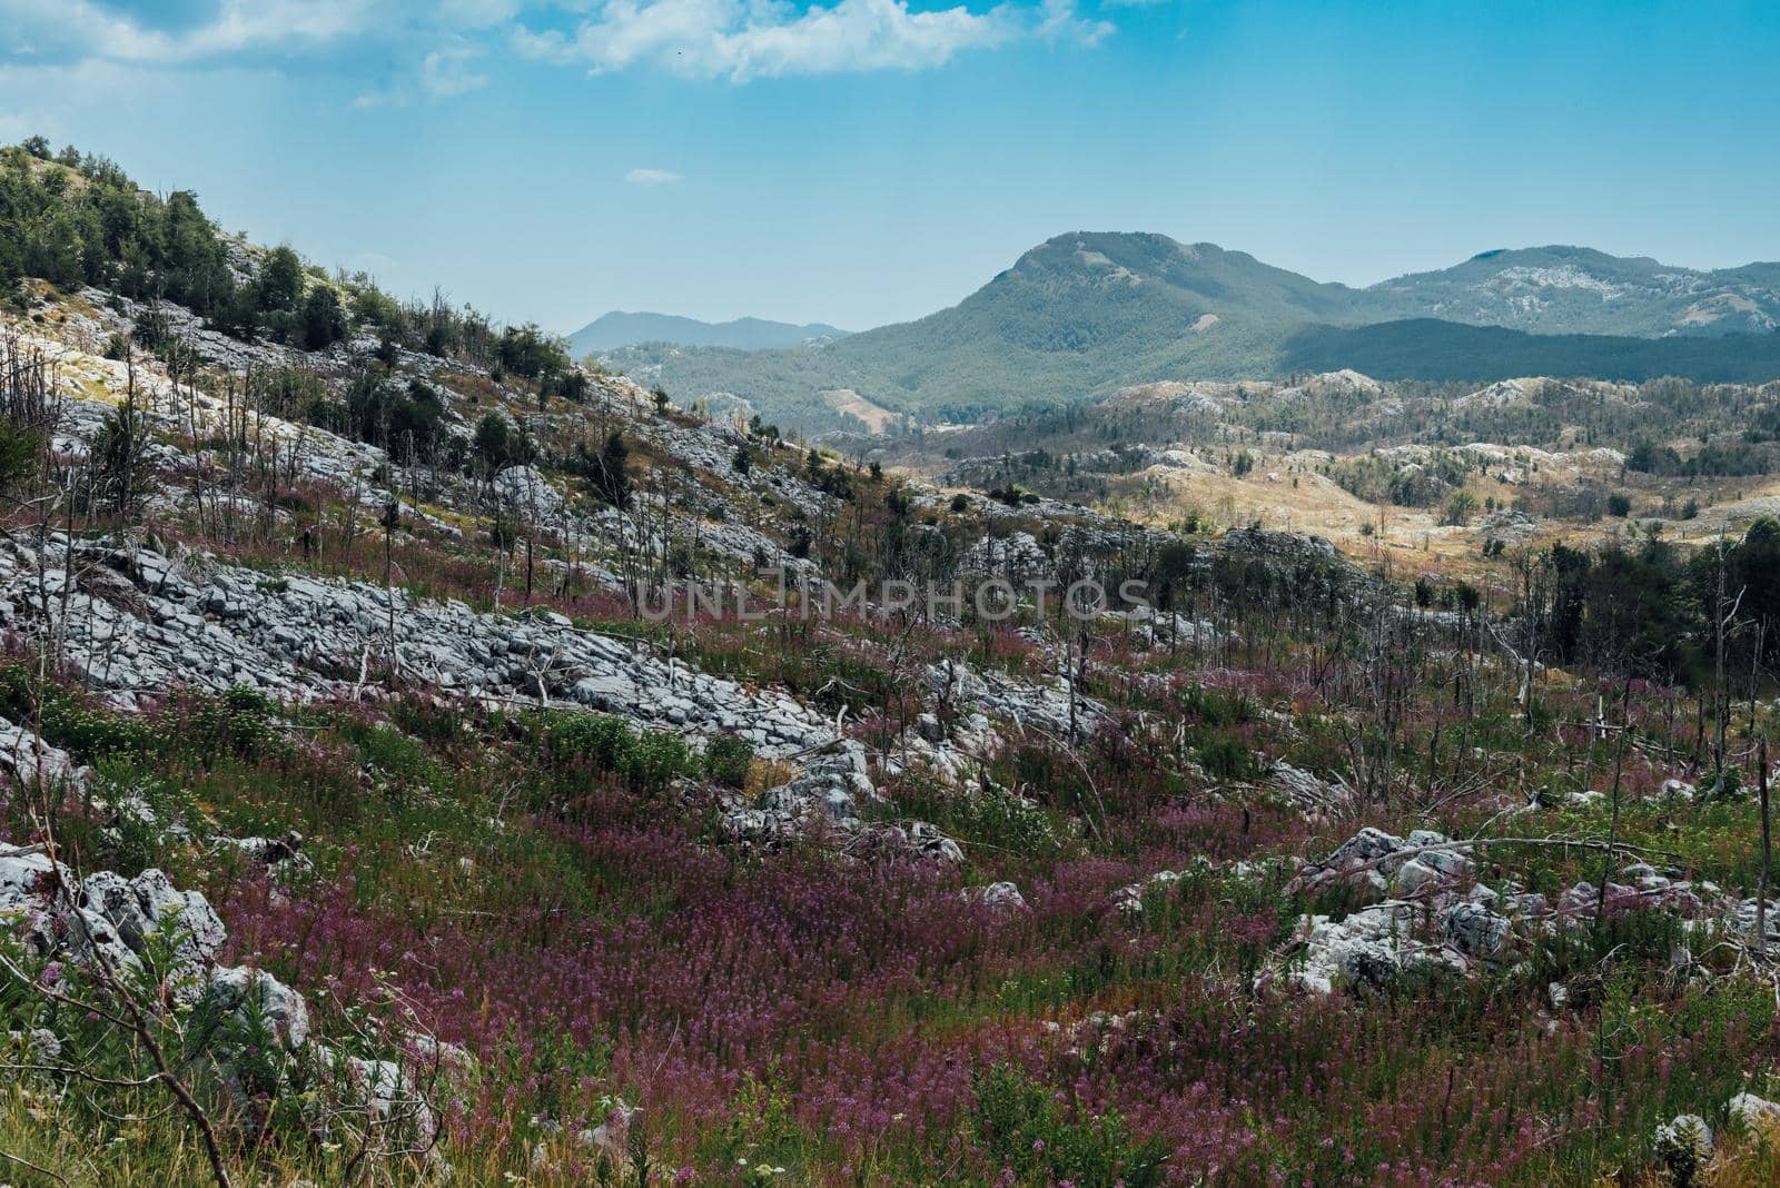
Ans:
[[[1022,37],[1095,43],[1104,21],[1075,14],[1073,0],[1032,9],[915,12],[906,0],[837,0],[796,9],[785,0],[603,0],[573,34],[514,30],[514,46],[539,60],[591,73],[655,66],[694,78],[778,78],[943,66],[965,50]]]

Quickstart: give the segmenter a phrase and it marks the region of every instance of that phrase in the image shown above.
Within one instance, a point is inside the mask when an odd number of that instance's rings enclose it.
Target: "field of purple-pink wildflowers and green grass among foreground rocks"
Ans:
[[[9,669],[14,711],[34,710],[25,676]],[[1273,953],[1296,921],[1358,902],[1344,884],[1294,886],[1298,863],[1358,818],[1307,818],[1202,763],[1310,763],[1326,740],[1289,686],[1264,672],[1148,683],[1075,749],[1013,740],[979,790],[917,772],[886,783],[874,813],[938,823],[963,866],[849,854],[819,832],[739,847],[707,791],[756,790],[760,761],[732,751],[716,772],[678,736],[619,718],[251,695],[123,717],[52,688],[41,720],[46,742],[94,767],[89,802],[134,790],[160,820],[303,834],[306,868],[279,873],[80,802],[53,822],[85,868],[155,866],[201,887],[231,953],[303,987],[317,1030],[399,1015],[468,1055],[440,1078],[431,1165],[381,1172],[395,1179],[1641,1183],[1668,1176],[1659,1124],[1721,1117],[1734,1094],[1766,1088],[1773,985],[1639,905],[1481,978],[1285,987]],[[1659,704],[1652,692],[1643,708]],[[1586,747],[1529,740],[1513,706],[1467,729],[1529,783],[1561,779]],[[1638,779],[1655,777],[1638,765]],[[1365,820],[1476,831],[1497,800],[1474,800]],[[1627,800],[1629,850],[1753,886],[1752,804]],[[1558,809],[1540,831],[1581,834],[1591,816]],[[25,799],[7,823],[14,838],[43,827]],[[1145,882],[1155,871],[1178,877]],[[1598,855],[1504,848],[1477,870],[1509,875],[1556,891],[1598,877]],[[972,895],[1004,880],[1018,907]],[[1136,909],[1121,900],[1132,884]],[[1698,967],[1679,969],[1687,946]],[[1574,987],[1563,1010],[1552,983]],[[0,1145],[44,1165],[75,1160],[71,1135],[98,1135],[78,1163],[101,1181],[196,1176],[178,1119],[119,1110],[119,1094],[52,1101],[20,1081]],[[44,1112],[61,1122],[43,1126]],[[344,1154],[269,1126],[237,1158],[249,1183],[326,1183]],[[1721,1163],[1700,1183],[1771,1170],[1760,1136]]]

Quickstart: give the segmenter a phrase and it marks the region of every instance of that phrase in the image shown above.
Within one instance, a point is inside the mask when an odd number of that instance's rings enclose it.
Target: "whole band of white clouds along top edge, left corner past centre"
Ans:
[[[917,11],[910,0],[555,0],[532,5],[536,21],[552,21],[545,27],[527,23],[523,0],[217,0],[196,25],[105,0],[0,0],[0,62],[285,69],[295,55],[340,53],[370,71],[388,64],[381,78],[358,80],[352,105],[372,108],[477,91],[498,52],[595,75],[662,69],[732,82],[931,69],[1016,41],[1095,44],[1112,25],[1084,16],[1084,2]]]

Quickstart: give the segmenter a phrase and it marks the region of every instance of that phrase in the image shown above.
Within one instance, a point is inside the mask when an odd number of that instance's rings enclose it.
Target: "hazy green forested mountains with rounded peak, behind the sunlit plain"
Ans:
[[[917,322],[780,350],[619,349],[675,397],[728,393],[806,429],[860,398],[927,420],[1162,379],[1355,366],[1392,377],[1780,375],[1780,265],[1702,272],[1581,247],[1483,253],[1349,288],[1216,244],[1072,233]]]

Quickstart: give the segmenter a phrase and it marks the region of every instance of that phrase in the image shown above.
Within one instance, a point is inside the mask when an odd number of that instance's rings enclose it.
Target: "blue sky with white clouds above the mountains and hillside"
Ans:
[[[1771,0],[0,0],[0,140],[507,322],[865,329],[1077,229],[1776,260],[1775,62]]]

